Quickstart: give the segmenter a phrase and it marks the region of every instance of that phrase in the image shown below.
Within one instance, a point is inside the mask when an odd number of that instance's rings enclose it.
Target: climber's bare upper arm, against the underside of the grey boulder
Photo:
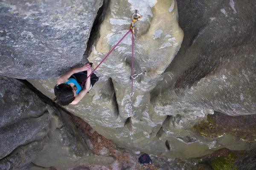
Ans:
[[[88,69],[91,69],[91,65],[88,62],[87,64],[85,64],[83,67],[78,67],[78,68],[72,68],[70,71],[68,71],[67,73],[63,74],[59,79],[57,84],[61,84],[61,83],[65,83],[68,81],[68,78],[70,78],[70,76],[72,76],[72,74],[75,73],[79,73],[81,71],[87,71]]]

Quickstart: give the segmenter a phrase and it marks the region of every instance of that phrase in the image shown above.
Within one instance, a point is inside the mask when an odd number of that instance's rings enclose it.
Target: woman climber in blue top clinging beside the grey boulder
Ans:
[[[62,106],[76,105],[99,80],[93,73],[82,85],[82,82],[87,78],[87,74],[90,75],[91,73],[91,63],[87,63],[81,68],[72,68],[62,75],[54,87],[56,96],[54,101]]]

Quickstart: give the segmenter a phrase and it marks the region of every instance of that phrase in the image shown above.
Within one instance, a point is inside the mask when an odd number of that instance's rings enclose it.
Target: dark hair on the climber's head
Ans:
[[[59,84],[54,87],[55,98],[53,99],[59,105],[66,106],[74,101],[75,96],[73,88],[68,84]]]

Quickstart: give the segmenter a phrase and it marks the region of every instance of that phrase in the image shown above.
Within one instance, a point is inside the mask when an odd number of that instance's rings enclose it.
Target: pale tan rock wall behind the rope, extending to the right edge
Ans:
[[[253,0],[111,0],[88,58],[94,66],[128,31],[135,9],[143,18],[136,23],[134,71],[147,75],[137,78],[133,141],[125,110],[131,93],[131,35],[99,67],[103,76],[90,93],[67,110],[118,144],[169,158],[204,156],[223,147],[252,149],[233,135],[209,139],[190,128],[214,111],[256,113]],[[29,81],[54,98],[57,78]]]

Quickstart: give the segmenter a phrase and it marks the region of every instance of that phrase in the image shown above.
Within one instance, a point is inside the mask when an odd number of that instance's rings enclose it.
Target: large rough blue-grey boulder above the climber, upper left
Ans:
[[[46,79],[79,64],[102,2],[1,1],[0,74]]]

